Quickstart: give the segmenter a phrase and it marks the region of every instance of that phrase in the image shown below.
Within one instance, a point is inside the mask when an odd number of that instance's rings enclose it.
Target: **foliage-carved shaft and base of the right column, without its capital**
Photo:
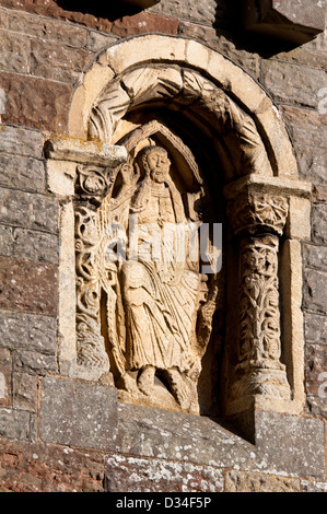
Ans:
[[[277,235],[241,243],[238,364],[232,395],[290,398],[280,362],[280,311]]]

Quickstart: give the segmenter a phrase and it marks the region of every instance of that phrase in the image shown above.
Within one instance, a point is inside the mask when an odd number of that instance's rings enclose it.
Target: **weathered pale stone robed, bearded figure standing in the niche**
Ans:
[[[151,400],[154,395],[157,400],[159,377],[182,409],[195,410],[217,288],[208,302],[208,278],[199,272],[198,258],[189,258],[189,220],[170,168],[166,150],[157,145],[143,148],[133,165],[121,167],[120,190],[104,201],[102,217],[128,234],[126,258],[113,261],[104,241],[100,269],[106,271],[101,273],[102,285],[107,293],[108,346],[119,374],[118,388],[135,399],[143,395]],[[137,221],[137,231],[131,220]],[[176,250],[180,241],[182,253]],[[210,304],[213,308],[208,308]],[[202,340],[197,336],[199,312]]]

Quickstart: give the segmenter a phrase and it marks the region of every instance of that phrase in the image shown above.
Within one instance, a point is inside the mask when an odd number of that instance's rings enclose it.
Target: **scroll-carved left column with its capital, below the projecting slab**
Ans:
[[[108,194],[113,168],[80,165],[75,180],[77,362],[85,371],[109,371],[101,334],[97,254],[101,234],[96,210]]]

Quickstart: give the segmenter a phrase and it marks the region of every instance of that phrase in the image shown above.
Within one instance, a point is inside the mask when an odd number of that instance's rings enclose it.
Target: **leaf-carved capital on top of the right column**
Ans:
[[[288,212],[284,197],[256,191],[242,192],[227,206],[229,219],[236,233],[262,233],[266,230],[281,235]]]

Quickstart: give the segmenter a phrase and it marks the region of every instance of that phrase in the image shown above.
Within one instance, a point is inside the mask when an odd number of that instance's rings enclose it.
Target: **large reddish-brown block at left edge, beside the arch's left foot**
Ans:
[[[3,72],[0,73],[0,87],[5,91],[2,121],[65,132],[70,84]]]

